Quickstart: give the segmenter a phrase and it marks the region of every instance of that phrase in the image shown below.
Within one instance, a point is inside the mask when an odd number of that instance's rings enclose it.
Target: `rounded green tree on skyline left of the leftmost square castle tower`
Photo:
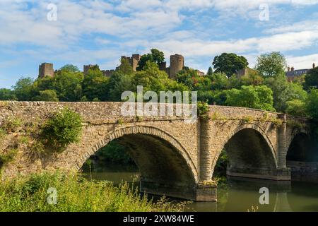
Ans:
[[[13,90],[20,101],[31,100],[37,94],[33,78],[20,78],[13,86]]]

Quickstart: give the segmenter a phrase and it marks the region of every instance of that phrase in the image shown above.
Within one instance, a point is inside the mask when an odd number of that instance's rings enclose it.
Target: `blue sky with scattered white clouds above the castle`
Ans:
[[[152,48],[201,71],[223,52],[253,67],[273,51],[309,69],[317,47],[318,0],[0,0],[0,88],[37,78],[42,62],[114,69]]]

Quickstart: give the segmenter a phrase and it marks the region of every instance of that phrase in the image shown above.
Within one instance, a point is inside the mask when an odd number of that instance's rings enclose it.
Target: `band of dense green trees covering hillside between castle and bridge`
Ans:
[[[262,54],[254,69],[237,76],[247,59],[236,54],[221,54],[213,60],[206,76],[184,67],[177,78],[168,78],[158,64],[165,60],[163,52],[151,49],[141,57],[137,71],[123,59],[112,76],[106,77],[96,65],[86,76],[76,66],[66,65],[55,71],[53,78],[20,78],[12,89],[1,88],[0,100],[42,101],[121,101],[125,90],[136,92],[167,90],[197,91],[200,101],[217,105],[252,107],[300,116],[317,117],[318,69],[289,83],[284,73],[285,57],[279,52]]]

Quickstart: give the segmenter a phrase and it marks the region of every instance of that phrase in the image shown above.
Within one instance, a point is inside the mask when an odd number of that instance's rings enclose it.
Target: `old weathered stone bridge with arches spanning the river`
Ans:
[[[90,155],[118,140],[141,172],[141,191],[215,201],[213,170],[221,151],[228,153],[227,174],[234,177],[290,180],[286,158],[305,161],[314,152],[309,119],[241,107],[209,106],[194,124],[185,117],[123,117],[120,102],[0,102],[0,128],[19,119],[19,131],[0,135],[0,155],[50,113],[69,107],[83,117],[81,141],[61,153],[34,155],[18,148],[1,177],[42,170],[79,170]],[[175,107],[175,105],[174,105]],[[3,129],[4,131],[4,129]]]

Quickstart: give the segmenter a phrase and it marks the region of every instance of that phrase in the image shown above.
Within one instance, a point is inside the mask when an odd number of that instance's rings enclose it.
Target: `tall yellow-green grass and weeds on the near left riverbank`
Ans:
[[[57,189],[57,204],[47,202],[49,188]],[[0,211],[27,212],[126,212],[182,211],[184,204],[165,199],[153,202],[127,184],[83,179],[78,174],[33,174],[30,177],[0,182]]]

